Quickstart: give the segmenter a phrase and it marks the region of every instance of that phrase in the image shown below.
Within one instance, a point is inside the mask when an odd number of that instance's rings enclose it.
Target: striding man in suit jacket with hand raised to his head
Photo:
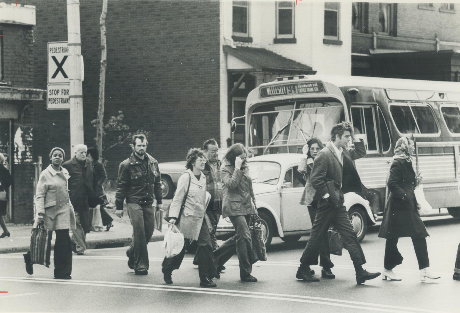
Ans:
[[[319,281],[310,273],[310,265],[318,264],[318,252],[328,228],[333,224],[344,241],[351,260],[356,270],[356,282],[364,283],[366,280],[380,276],[380,273],[369,273],[362,268],[366,258],[362,252],[361,245],[351,226],[348,213],[344,206],[343,189],[350,186],[342,186],[344,168],[347,168],[348,177],[353,177],[357,172],[352,160],[359,159],[366,155],[366,148],[362,140],[357,140],[353,134],[351,123],[339,123],[331,130],[332,141],[328,142],[315,158],[310,181],[316,190],[315,198],[320,199],[317,204],[316,218],[310,233],[305,251],[300,258],[300,267],[296,278],[306,281]],[[350,140],[355,143],[355,149],[347,150],[346,146]],[[344,167],[345,165],[345,167]],[[347,166],[348,165],[348,166]],[[350,179],[347,179],[350,184]],[[361,182],[359,190],[361,190]],[[347,187],[347,188],[345,188]],[[357,187],[352,188],[356,190]]]

